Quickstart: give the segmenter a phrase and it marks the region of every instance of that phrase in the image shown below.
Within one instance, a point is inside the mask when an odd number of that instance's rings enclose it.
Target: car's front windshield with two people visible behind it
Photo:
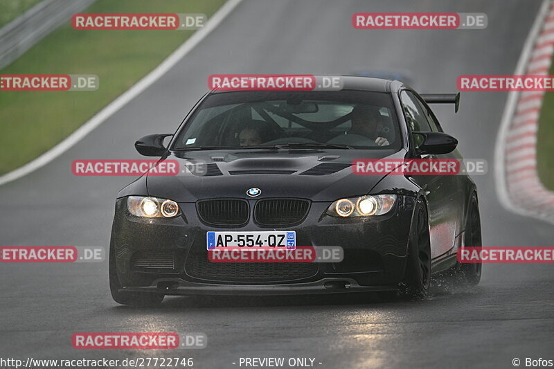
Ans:
[[[400,149],[388,93],[240,91],[208,96],[172,150]]]

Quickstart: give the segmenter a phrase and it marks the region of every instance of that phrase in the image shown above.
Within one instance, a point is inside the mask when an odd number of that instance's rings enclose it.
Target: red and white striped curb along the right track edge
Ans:
[[[515,75],[548,75],[554,54],[554,0],[544,0]],[[515,213],[554,223],[554,192],[537,174],[537,130],[544,91],[510,91],[495,148],[499,200]]]

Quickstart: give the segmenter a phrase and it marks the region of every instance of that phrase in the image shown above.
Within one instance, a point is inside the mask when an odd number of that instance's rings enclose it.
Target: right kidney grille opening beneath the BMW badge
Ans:
[[[291,226],[302,222],[309,208],[304,199],[263,199],[256,202],[254,220],[260,226]]]

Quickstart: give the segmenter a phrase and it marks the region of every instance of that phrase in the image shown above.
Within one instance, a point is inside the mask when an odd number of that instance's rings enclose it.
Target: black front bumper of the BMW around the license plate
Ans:
[[[296,226],[263,228],[251,220],[239,228],[214,228],[200,221],[195,204],[179,204],[182,214],[175,218],[145,219],[129,214],[126,198],[122,198],[116,201],[110,247],[125,291],[176,295],[382,291],[394,289],[404,277],[414,203],[413,197],[399,195],[391,213],[341,219],[324,215],[331,202],[314,202],[307,217]],[[344,260],[288,263],[296,265],[206,260],[207,231],[272,229],[296,231],[299,246],[341,246]],[[150,255],[154,262],[137,262],[143,255]]]

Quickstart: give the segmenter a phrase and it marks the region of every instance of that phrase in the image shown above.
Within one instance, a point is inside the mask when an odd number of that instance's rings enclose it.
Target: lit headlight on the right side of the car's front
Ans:
[[[396,195],[366,195],[339,199],[327,209],[333,217],[369,217],[383,215],[391,211]]]

